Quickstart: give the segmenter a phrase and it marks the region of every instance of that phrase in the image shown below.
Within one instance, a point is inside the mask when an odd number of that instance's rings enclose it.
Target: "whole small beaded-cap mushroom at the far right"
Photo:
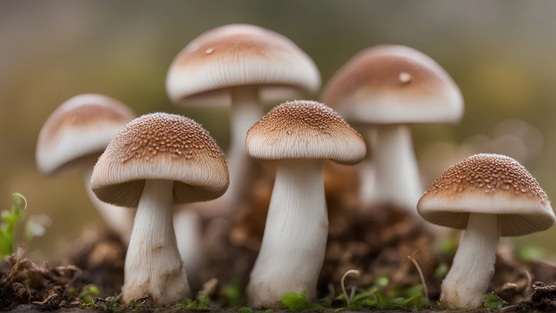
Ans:
[[[494,275],[500,236],[544,231],[556,218],[537,180],[505,155],[476,154],[452,165],[417,205],[430,223],[465,229],[444,278],[447,309],[477,309]]]

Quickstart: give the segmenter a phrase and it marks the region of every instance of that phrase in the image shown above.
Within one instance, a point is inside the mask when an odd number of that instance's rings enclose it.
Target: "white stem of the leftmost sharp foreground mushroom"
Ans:
[[[190,295],[173,229],[172,192],[172,180],[145,180],[124,267],[125,303],[150,294],[155,305],[173,305]]]

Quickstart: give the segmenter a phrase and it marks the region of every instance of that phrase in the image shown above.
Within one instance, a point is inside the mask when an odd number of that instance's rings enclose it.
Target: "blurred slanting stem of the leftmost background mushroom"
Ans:
[[[93,206],[97,209],[97,212],[101,214],[103,221],[105,222],[108,229],[115,232],[121,241],[127,247],[130,243],[131,230],[133,229],[133,218],[135,216],[135,209],[118,207],[113,204],[108,204],[102,202],[97,198],[93,190],[91,189],[91,175],[93,174],[93,167],[87,167],[83,169],[83,183],[85,184],[85,190],[87,190],[87,195]]]

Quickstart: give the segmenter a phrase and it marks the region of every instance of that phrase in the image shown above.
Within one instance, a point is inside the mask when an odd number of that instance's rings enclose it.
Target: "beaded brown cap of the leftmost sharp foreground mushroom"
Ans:
[[[137,207],[145,179],[174,180],[175,204],[218,198],[229,184],[224,154],[209,133],[167,113],[140,116],[120,130],[98,159],[91,187],[104,202]]]

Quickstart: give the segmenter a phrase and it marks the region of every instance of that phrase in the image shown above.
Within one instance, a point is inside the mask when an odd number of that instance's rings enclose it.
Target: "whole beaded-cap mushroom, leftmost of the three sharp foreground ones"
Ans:
[[[228,187],[224,155],[195,121],[153,113],[127,124],[98,159],[93,192],[104,202],[136,207],[124,267],[122,299],[147,294],[156,305],[190,295],[172,223],[172,204],[220,197]]]

